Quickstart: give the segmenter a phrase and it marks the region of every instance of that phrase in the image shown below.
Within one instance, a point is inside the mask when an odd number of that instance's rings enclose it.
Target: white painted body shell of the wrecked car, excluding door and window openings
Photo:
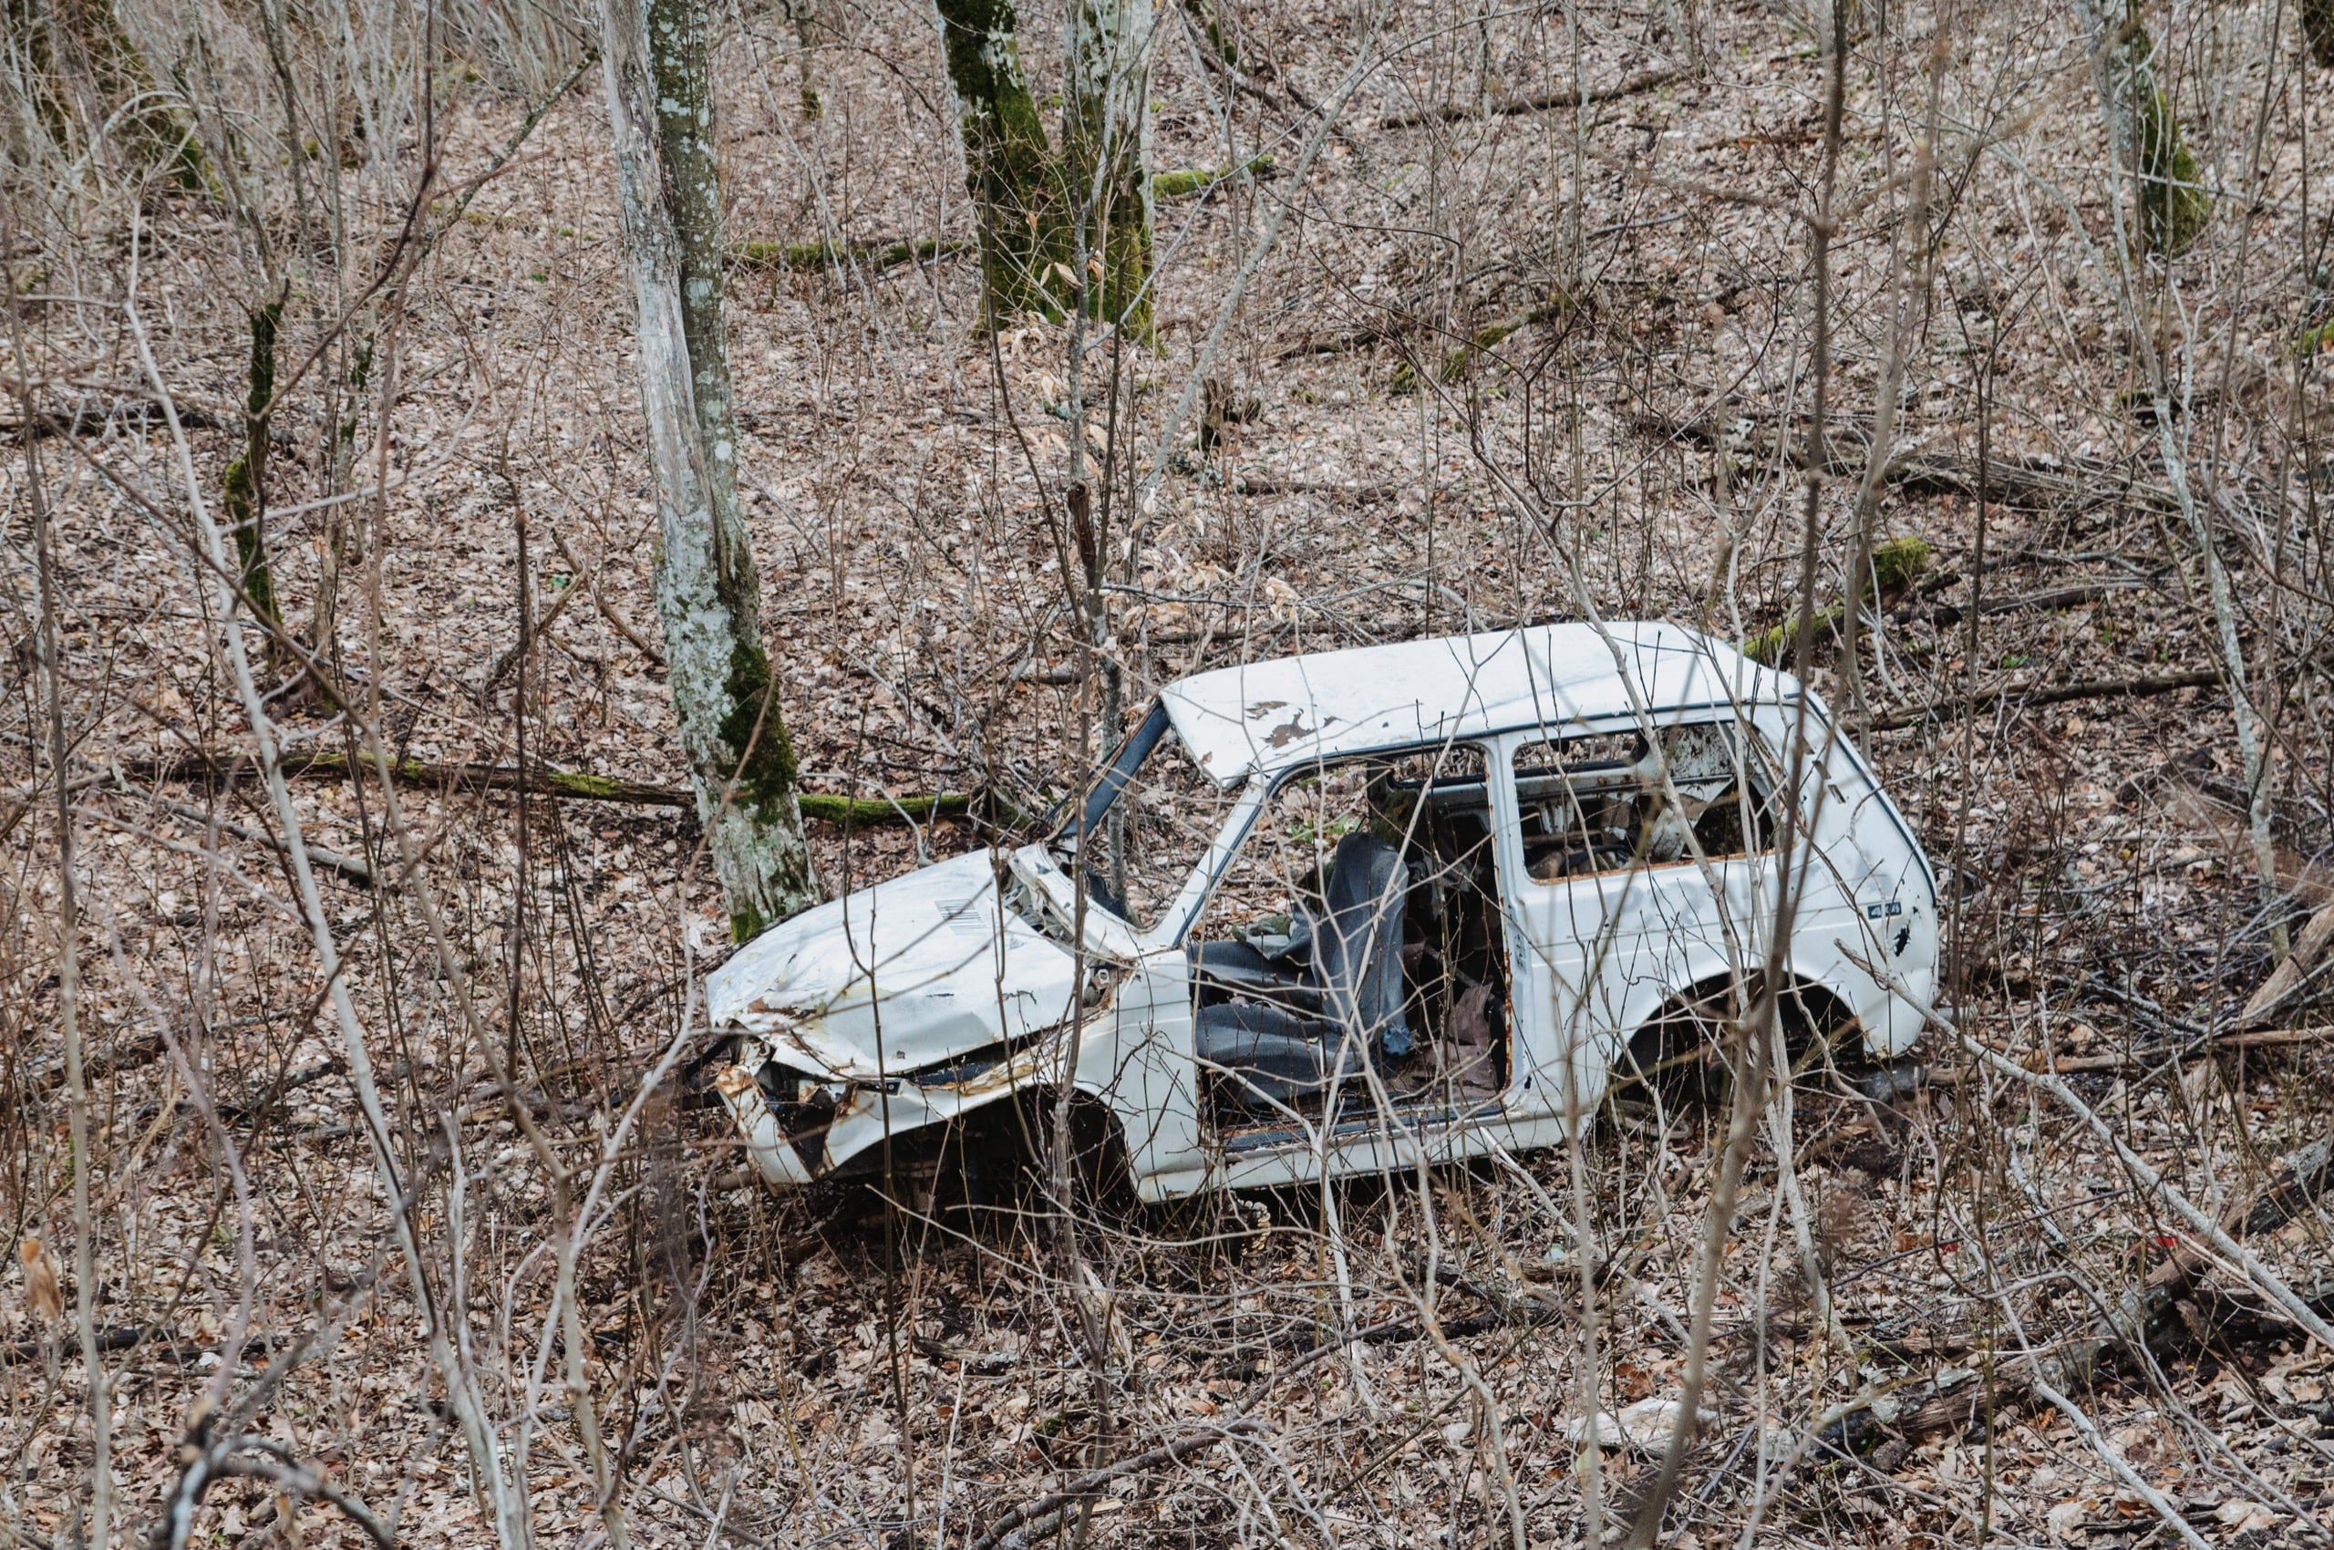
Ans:
[[[1057,1090],[1071,1050],[1069,1081],[1116,1118],[1146,1200],[1561,1141],[1594,1113],[1636,1027],[1692,985],[1765,964],[1783,857],[1529,880],[1512,752],[1559,733],[1722,721],[1755,728],[1781,763],[1804,731],[1788,969],[1839,997],[1877,1057],[1921,1029],[1898,992],[1935,994],[1937,899],[1912,826],[1814,696],[1720,642],[1659,623],[1540,626],[1225,668],[1169,684],[1160,703],[1183,745],[1160,756],[1190,756],[1246,794],[1151,934],[1081,910],[1069,873],[1027,845],[805,910],[707,978],[712,1025],[738,1041],[717,1085],[763,1179],[796,1188],[864,1165],[885,1134]],[[1496,815],[1505,1090],[1463,1111],[1223,1132],[1202,1102],[1183,936],[1265,794],[1323,759],[1452,742],[1484,749]],[[1069,922],[1085,929],[1078,950]],[[803,1127],[812,1111],[817,1134]]]

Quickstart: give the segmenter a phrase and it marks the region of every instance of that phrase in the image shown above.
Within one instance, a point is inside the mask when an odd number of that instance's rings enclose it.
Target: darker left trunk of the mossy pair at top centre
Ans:
[[[1013,0],[936,0],[936,9],[990,320],[1062,317],[1074,292],[1069,201],[1022,72]]]

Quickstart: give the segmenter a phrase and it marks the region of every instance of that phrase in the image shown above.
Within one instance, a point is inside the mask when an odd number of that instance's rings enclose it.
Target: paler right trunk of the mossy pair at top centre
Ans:
[[[1062,168],[1088,313],[1151,334],[1151,0],[1071,0]]]

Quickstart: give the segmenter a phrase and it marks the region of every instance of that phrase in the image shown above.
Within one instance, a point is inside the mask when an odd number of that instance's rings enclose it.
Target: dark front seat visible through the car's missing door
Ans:
[[[1235,1076],[1235,1102],[1288,1104],[1333,1076],[1356,1074],[1363,1060],[1410,1053],[1400,957],[1407,892],[1400,852],[1368,831],[1349,833],[1330,859],[1323,920],[1314,924],[1302,976],[1274,973],[1263,955],[1251,964],[1246,955],[1218,952],[1218,943],[1195,952],[1195,971],[1235,997],[1202,1006],[1193,1027],[1200,1060]],[[1267,971],[1265,983],[1253,990],[1235,983],[1258,969]]]

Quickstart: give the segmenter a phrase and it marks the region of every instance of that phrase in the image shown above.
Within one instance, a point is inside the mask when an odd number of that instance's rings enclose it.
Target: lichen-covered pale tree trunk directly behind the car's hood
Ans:
[[[656,612],[698,817],[745,941],[815,903],[817,885],[738,514],[712,40],[703,0],[600,0],[600,26],[656,476]]]

